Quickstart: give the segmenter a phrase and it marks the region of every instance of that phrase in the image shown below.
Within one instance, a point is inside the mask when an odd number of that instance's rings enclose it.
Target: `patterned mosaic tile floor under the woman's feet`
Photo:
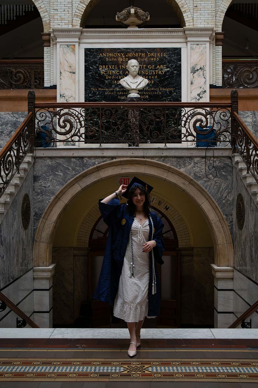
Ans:
[[[0,339],[0,387],[258,388],[256,339],[142,340],[133,359],[127,346],[118,339]]]

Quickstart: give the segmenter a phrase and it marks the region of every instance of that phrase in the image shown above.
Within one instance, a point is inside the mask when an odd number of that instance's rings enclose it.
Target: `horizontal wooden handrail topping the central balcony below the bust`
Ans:
[[[84,107],[186,107],[186,108],[231,108],[231,102],[38,102],[35,108],[84,108]]]

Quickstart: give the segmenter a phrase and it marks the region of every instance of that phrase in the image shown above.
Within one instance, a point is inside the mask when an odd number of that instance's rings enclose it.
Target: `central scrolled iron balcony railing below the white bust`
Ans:
[[[84,144],[231,144],[231,103],[82,102],[35,104],[36,133],[52,146]]]

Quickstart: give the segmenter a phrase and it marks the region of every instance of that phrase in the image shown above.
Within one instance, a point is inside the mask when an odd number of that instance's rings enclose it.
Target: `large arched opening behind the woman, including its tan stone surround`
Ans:
[[[56,263],[53,287],[56,326],[72,326],[80,309],[83,306],[86,310],[89,308],[89,303],[83,305],[82,302],[91,302],[89,277],[92,282],[96,281],[97,271],[95,268],[95,275],[89,276],[89,268],[94,267],[89,267],[89,248],[93,254],[91,260],[96,261],[98,267],[103,249],[92,249],[92,240],[96,237],[93,238],[93,234],[96,226],[98,233],[104,233],[103,236],[106,233],[99,219],[98,198],[112,192],[118,185],[118,177],[135,174],[157,188],[154,207],[166,215],[175,231],[177,244],[170,249],[180,251],[181,256],[181,275],[177,279],[183,290],[178,310],[180,325],[191,326],[193,322],[198,326],[212,325],[214,286],[210,264],[229,267],[233,258],[231,236],[218,205],[200,184],[176,168],[147,159],[121,159],[101,163],[73,178],[53,197],[39,222],[34,243],[34,267]],[[97,238],[95,244],[96,241]],[[167,265],[172,268],[174,264],[171,263],[177,256],[173,258],[171,250],[166,256]],[[65,288],[65,284],[70,288]],[[197,303],[200,292],[202,303],[199,297]],[[193,298],[194,294],[196,298]],[[62,314],[58,314],[58,305],[62,307]],[[208,307],[210,317],[204,322],[202,319],[209,316]],[[201,314],[204,310],[205,314]],[[64,312],[66,321],[55,322],[55,315],[64,317]]]

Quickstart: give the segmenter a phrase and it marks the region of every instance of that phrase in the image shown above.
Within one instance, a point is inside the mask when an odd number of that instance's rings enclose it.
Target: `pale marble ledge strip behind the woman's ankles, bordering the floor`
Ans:
[[[128,338],[127,329],[0,328],[0,338]],[[258,329],[142,329],[141,338],[258,338]]]

